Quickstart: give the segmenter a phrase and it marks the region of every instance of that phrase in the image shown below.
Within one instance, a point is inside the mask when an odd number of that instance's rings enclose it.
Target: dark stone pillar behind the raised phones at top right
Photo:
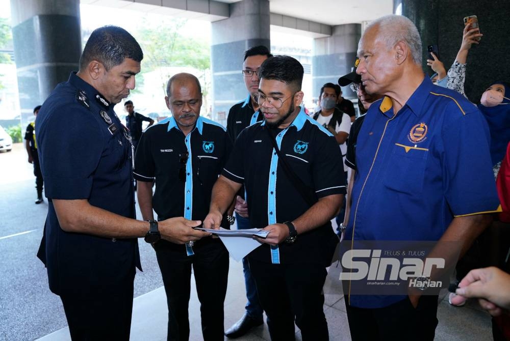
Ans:
[[[493,81],[510,81],[510,68],[507,67],[508,55],[508,13],[510,2],[478,0],[401,0],[402,15],[410,18],[418,27],[422,40],[423,69],[426,74],[433,72],[427,67],[427,45],[438,44],[441,61],[448,70],[455,60],[462,42],[464,17],[476,15],[483,37],[479,45],[469,50],[466,83],[466,95],[479,103],[481,94]]]

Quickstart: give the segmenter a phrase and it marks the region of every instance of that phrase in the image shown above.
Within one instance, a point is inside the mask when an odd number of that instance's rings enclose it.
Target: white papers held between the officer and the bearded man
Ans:
[[[231,257],[237,262],[240,262],[248,253],[262,245],[258,240],[251,238],[253,235],[265,238],[269,234],[268,231],[260,229],[225,230],[220,228],[220,230],[209,230],[197,228],[196,230],[218,235]]]

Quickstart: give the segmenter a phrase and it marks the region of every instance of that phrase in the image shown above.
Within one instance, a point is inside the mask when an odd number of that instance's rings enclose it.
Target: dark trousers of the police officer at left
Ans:
[[[61,295],[73,341],[129,340],[133,277],[125,285],[87,296]]]

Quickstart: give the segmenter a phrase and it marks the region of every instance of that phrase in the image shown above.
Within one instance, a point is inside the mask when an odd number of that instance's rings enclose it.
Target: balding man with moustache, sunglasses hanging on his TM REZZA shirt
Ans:
[[[165,101],[172,116],[147,129],[136,152],[134,176],[138,180],[140,210],[143,219],[154,219],[154,209],[159,220],[183,215],[203,220],[232,143],[225,128],[200,116],[202,93],[195,76],[172,76],[166,92]],[[230,226],[226,217],[220,220],[223,228]],[[185,245],[160,240],[152,245],[167,297],[168,340],[189,338],[192,266],[203,338],[223,339],[228,251],[220,239],[203,238]]]

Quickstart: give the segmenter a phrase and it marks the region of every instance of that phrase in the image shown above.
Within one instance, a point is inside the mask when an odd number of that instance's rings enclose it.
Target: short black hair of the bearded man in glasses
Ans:
[[[300,91],[303,83],[303,66],[289,55],[275,55],[266,59],[260,66],[260,79],[274,79],[286,83]]]

